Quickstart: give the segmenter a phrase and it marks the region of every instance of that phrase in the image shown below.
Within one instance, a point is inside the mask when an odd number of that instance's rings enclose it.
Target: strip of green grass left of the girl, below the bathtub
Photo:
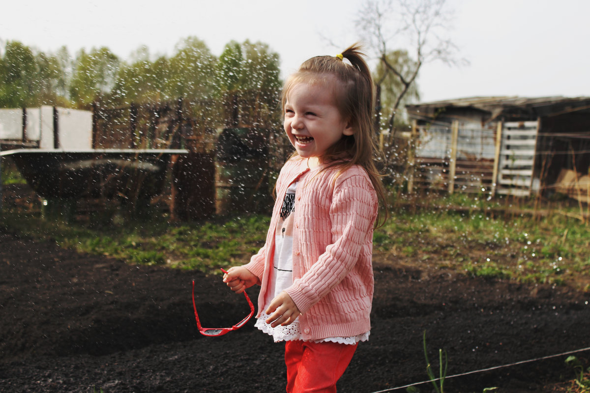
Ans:
[[[170,265],[215,271],[248,262],[264,244],[267,217],[246,216],[211,222],[170,224],[165,219],[129,220],[97,227],[88,223],[43,220],[28,214],[5,213],[4,226],[34,239],[107,255],[129,263]]]

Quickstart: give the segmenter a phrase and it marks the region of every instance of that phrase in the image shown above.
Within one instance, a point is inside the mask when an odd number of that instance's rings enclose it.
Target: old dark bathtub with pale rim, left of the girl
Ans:
[[[120,196],[149,199],[160,194],[172,154],[182,149],[40,150],[0,152],[45,199]],[[133,193],[133,195],[130,195]]]

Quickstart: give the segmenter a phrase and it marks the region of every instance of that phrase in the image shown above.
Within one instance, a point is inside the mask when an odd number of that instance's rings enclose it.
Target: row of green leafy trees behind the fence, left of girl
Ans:
[[[102,47],[81,49],[73,58],[65,47],[46,55],[19,42],[0,48],[0,55],[3,107],[87,109],[95,101],[125,107],[183,98],[198,127],[217,128],[237,118],[242,126],[271,128],[280,119],[279,58],[261,42],[231,41],[219,58],[196,37],[179,41],[171,57],[152,58],[140,47],[122,61]]]

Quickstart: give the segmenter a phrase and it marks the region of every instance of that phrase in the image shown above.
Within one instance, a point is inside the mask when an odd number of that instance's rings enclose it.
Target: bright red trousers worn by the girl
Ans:
[[[287,393],[336,393],[357,345],[286,341]]]

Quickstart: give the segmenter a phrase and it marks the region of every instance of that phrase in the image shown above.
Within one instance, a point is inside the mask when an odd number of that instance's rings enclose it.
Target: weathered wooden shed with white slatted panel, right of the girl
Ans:
[[[569,186],[586,194],[579,180],[590,170],[590,97],[471,97],[406,108],[411,188],[529,196],[563,192],[569,174]]]

